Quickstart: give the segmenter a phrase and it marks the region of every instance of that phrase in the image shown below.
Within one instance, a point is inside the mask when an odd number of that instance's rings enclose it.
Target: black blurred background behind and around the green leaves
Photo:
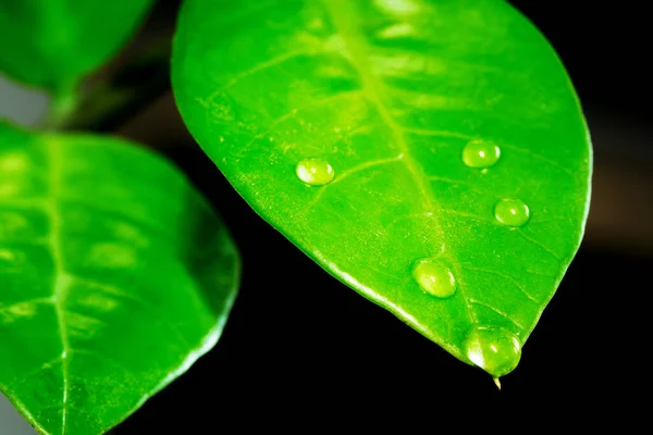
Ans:
[[[456,417],[505,430],[570,418],[633,423],[650,377],[648,307],[653,289],[653,126],[646,2],[510,1],[549,38],[580,96],[594,144],[593,198],[583,245],[523,348],[502,378],[464,364],[322,271],[262,221],[185,130],[165,63],[122,79],[161,79],[101,128],[158,148],[213,201],[243,256],[241,294],[215,348],[114,430],[119,435],[242,433],[247,427],[403,433]],[[159,2],[133,46],[165,38],[178,1]],[[157,66],[158,65],[158,66]],[[153,83],[153,82],[152,82]],[[644,399],[645,400],[645,399]],[[494,415],[485,418],[484,415]],[[183,428],[183,430],[182,430]],[[526,427],[528,428],[528,427]],[[1,430],[0,430],[1,433]]]

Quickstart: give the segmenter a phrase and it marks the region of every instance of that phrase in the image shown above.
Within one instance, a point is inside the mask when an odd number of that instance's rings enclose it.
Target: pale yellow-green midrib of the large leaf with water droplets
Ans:
[[[419,192],[426,199],[426,206],[429,212],[433,213],[433,216],[439,216],[439,207],[433,201],[433,194],[431,188],[424,183],[426,174],[423,173],[421,166],[418,162],[411,157],[410,147],[406,141],[404,132],[402,126],[395,121],[394,116],[387,109],[387,107],[383,103],[380,98],[381,89],[383,88],[382,82],[379,79],[378,75],[374,74],[371,64],[368,61],[368,54],[366,50],[367,44],[365,42],[365,38],[358,30],[358,26],[355,20],[357,15],[355,8],[352,7],[348,0],[322,0],[324,9],[329,13],[332,18],[332,23],[335,27],[336,33],[341,36],[344,46],[347,48],[350,54],[350,64],[356,69],[360,76],[360,82],[362,86],[362,94],[372,102],[379,112],[379,115],[386,124],[389,129],[392,133],[395,144],[399,148],[402,162],[406,165],[414,183],[416,184]],[[444,232],[442,231],[442,226],[439,223],[438,219],[433,219],[434,225],[432,228],[436,229],[436,237],[440,240],[443,240],[446,248],[449,248],[451,245],[446,244],[446,238],[444,237]],[[456,277],[459,279],[459,270],[457,263],[453,261],[453,258],[447,256],[447,260],[451,263],[451,266],[454,269],[454,273]],[[469,315],[469,320],[472,324],[478,323],[473,309],[470,304],[470,300],[465,295],[464,286],[459,283],[458,289],[463,299],[465,300],[465,304],[467,308],[467,314]]]

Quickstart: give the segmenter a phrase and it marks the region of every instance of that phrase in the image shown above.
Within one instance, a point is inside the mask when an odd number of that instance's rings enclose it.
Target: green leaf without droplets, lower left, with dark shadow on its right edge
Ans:
[[[237,251],[170,163],[0,123],[0,388],[47,434],[100,434],[218,340]]]

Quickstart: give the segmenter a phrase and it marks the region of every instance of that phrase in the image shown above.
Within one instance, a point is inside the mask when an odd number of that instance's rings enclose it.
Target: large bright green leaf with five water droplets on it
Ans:
[[[580,244],[591,147],[564,67],[512,7],[187,0],[173,86],[291,241],[458,359],[515,368]]]

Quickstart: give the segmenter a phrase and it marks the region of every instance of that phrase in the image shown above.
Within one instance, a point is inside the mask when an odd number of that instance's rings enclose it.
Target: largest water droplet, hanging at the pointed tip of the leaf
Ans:
[[[497,326],[477,326],[466,340],[467,358],[494,377],[510,373],[521,358],[521,344]]]

